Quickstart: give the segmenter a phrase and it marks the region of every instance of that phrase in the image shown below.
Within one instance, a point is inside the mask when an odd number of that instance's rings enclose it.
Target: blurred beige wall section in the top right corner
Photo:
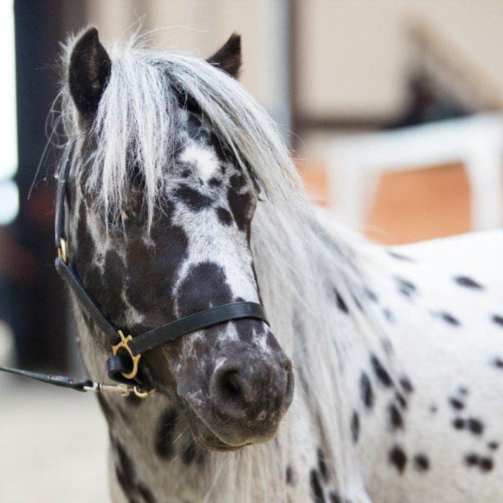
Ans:
[[[503,101],[503,2],[296,1],[298,107],[309,115],[398,115],[413,56],[407,27],[421,23],[478,91]],[[463,78],[460,75],[460,78]],[[480,80],[480,82],[479,82]]]

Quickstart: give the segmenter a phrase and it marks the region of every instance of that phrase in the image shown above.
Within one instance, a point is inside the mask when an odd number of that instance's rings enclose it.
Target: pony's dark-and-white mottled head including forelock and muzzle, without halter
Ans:
[[[210,307],[261,302],[250,249],[260,188],[226,138],[225,122],[236,129],[239,119],[228,89],[241,89],[240,37],[207,61],[136,46],[116,52],[96,29],[68,46],[73,267],[101,312],[133,337]],[[205,78],[191,86],[198,70]],[[83,316],[93,344],[110,353]],[[207,449],[267,441],[293,398],[291,361],[263,321],[185,335],[145,353],[140,368]]]

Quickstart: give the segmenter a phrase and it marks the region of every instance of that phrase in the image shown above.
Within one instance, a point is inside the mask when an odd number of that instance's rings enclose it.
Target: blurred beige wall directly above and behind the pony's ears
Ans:
[[[289,126],[289,0],[85,0],[89,24],[104,41],[134,29],[152,31],[163,49],[208,57],[233,31],[242,35],[241,82],[273,117]],[[66,3],[71,9],[72,4]]]

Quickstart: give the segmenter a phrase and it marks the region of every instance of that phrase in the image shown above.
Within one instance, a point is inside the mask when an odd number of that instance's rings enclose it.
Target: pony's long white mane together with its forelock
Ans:
[[[70,41],[66,68],[72,48]],[[178,105],[173,87],[198,103],[222,143],[233,150],[244,173],[253,175],[267,196],[268,201],[259,204],[252,231],[261,295],[273,332],[292,356],[296,393],[305,395],[310,407],[307,414],[325,437],[327,462],[337,466],[340,486],[347,487],[348,479],[358,475],[350,454],[350,411],[342,376],[344,352],[349,344],[377,345],[370,309],[365,305],[360,312],[354,300],[356,296],[365,304],[363,282],[352,267],[354,249],[329,236],[317,223],[275,122],[237,80],[203,59],[147,50],[138,38],[107,49],[112,73],[93,126],[99,143],[89,161],[89,190],[99,191],[105,207],[120,207],[129,182],[129,163],[135,161],[145,178],[145,203],[152,221],[174,149]],[[78,118],[66,83],[62,96],[66,132],[76,135]],[[136,159],[126,159],[131,144],[135,145]],[[349,306],[362,335],[358,341],[344,340],[344,334],[338,332],[340,316],[345,315],[327,307],[328,292],[333,288]],[[289,416],[300,414],[298,407],[294,402],[286,416],[287,424]],[[298,455],[295,448],[294,438],[282,444],[289,459]],[[265,474],[277,471],[274,458],[268,459],[268,449],[272,449],[269,444],[250,450],[258,456],[263,453],[264,458],[249,468],[258,476],[256,483],[260,483],[261,473],[266,480]],[[225,459],[226,467],[216,471],[234,479],[234,490],[253,483],[242,480],[242,458],[234,455],[217,459]],[[281,497],[272,490],[270,501]]]

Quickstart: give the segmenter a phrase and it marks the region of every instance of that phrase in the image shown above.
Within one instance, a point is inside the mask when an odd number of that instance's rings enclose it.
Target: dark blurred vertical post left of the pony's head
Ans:
[[[15,1],[20,214],[8,235],[19,251],[22,274],[14,279],[12,304],[19,364],[41,370],[65,370],[68,360],[66,293],[54,272],[52,175],[57,152],[50,149],[42,159],[48,142],[45,122],[57,94],[59,43],[73,29],[63,26],[62,6],[62,0]],[[74,6],[77,15],[85,3]]]

